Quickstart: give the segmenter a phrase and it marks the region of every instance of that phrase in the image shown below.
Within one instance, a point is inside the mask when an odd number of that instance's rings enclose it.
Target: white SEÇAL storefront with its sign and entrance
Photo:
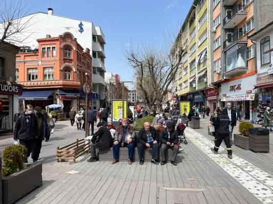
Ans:
[[[223,83],[222,102],[232,102],[235,109],[240,110],[242,119],[256,119],[258,95],[255,93],[256,75]]]

